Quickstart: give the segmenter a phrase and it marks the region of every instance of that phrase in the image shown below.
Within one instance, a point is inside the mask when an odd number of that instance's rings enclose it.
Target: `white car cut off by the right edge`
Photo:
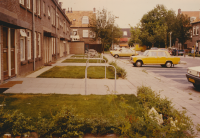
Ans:
[[[197,89],[200,89],[200,66],[189,67],[186,74],[187,80]]]

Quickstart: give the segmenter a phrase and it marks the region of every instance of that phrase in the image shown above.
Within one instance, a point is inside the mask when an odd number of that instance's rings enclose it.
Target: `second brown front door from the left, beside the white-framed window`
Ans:
[[[10,29],[11,77],[15,76],[15,29]]]

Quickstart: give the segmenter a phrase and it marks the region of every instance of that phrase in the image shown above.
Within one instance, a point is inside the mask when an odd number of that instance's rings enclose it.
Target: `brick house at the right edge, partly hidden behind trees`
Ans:
[[[200,40],[200,11],[181,11],[181,9],[178,9],[178,14],[187,15],[189,17],[190,23],[192,24],[191,39],[187,40],[183,46],[184,49],[191,49],[194,45],[197,45]]]

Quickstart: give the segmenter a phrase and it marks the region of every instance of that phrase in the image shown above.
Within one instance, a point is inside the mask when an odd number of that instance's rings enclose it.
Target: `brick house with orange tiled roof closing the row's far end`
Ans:
[[[91,28],[88,27],[89,22],[96,16],[95,8],[93,11],[72,11],[72,8],[66,11],[67,17],[72,22],[71,28],[71,42],[70,51],[73,54],[83,54],[85,50],[92,45],[100,47],[100,42],[94,41],[94,34],[91,32]],[[95,48],[94,48],[95,49]]]

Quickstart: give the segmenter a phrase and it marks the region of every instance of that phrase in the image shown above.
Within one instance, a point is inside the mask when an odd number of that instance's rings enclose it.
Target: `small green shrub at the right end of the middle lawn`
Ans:
[[[110,65],[113,65],[115,68],[116,68],[116,74],[118,77],[121,77],[121,78],[126,78],[126,71],[125,69],[117,66],[117,63],[112,61],[109,63]],[[115,69],[114,68],[110,68],[113,72],[115,72]]]

